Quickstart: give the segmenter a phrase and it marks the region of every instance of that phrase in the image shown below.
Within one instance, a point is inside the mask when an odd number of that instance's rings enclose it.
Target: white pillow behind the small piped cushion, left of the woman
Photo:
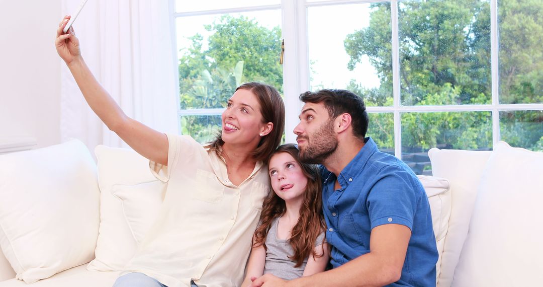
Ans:
[[[99,145],[94,153],[98,160],[100,186],[100,232],[94,251],[96,259],[91,261],[87,269],[122,271],[134,255],[137,242],[127,224],[123,204],[113,195],[113,191],[116,186],[137,186],[154,182],[156,177],[149,170],[149,160],[132,149]],[[150,194],[156,194],[155,186],[147,187],[150,188],[147,190]],[[142,207],[139,211],[143,212],[145,208]]]

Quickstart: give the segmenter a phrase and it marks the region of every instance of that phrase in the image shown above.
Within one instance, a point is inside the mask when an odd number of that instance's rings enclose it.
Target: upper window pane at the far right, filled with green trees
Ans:
[[[500,103],[543,103],[543,1],[498,0]]]

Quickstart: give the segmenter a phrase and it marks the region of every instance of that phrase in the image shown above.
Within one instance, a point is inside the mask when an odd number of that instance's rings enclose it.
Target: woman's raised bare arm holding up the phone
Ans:
[[[70,16],[64,17],[56,30],[56,51],[70,68],[91,109],[110,130],[117,133],[136,152],[156,163],[167,165],[167,136],[125,115],[109,93],[102,88],[81,57],[79,40],[74,35],[73,26],[67,34],[62,32],[69,19]]]

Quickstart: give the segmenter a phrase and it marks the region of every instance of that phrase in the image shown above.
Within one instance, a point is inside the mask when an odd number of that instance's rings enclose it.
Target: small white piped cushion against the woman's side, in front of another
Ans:
[[[136,185],[117,184],[113,195],[121,199],[128,227],[139,244],[159,214],[167,184],[160,180]]]

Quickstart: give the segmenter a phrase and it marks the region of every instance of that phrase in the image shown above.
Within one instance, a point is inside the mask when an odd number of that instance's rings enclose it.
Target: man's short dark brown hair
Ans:
[[[300,101],[304,103],[324,104],[330,118],[336,118],[341,114],[349,114],[352,118],[353,134],[364,140],[368,131],[368,112],[364,100],[348,90],[320,90],[305,92],[300,95]]]

